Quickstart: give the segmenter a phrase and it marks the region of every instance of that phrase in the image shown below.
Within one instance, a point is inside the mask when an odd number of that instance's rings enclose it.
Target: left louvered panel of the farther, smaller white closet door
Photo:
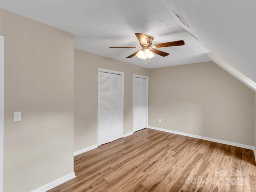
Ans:
[[[140,78],[133,78],[133,131],[140,130]]]

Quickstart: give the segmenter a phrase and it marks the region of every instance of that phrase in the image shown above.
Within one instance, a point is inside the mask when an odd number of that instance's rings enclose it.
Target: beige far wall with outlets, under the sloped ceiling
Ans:
[[[149,126],[255,146],[254,103],[213,62],[150,69]]]

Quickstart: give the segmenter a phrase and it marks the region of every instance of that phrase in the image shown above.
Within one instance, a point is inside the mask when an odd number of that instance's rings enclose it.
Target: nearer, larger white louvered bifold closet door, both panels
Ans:
[[[99,73],[98,144],[122,137],[122,76]]]

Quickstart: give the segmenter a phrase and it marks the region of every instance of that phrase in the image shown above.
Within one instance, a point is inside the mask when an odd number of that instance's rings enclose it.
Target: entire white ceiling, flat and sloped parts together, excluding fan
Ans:
[[[0,6],[74,34],[76,49],[139,66],[144,60],[126,58],[137,49],[109,46],[139,46],[134,33],[154,36],[153,44],[184,40],[184,46],[159,48],[170,55],[156,55],[146,67],[209,61],[210,51],[256,82],[255,0],[1,0]]]

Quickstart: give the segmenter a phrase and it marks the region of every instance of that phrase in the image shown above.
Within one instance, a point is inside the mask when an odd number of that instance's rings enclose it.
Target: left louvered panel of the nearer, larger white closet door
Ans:
[[[98,144],[111,142],[111,78],[100,72]]]

